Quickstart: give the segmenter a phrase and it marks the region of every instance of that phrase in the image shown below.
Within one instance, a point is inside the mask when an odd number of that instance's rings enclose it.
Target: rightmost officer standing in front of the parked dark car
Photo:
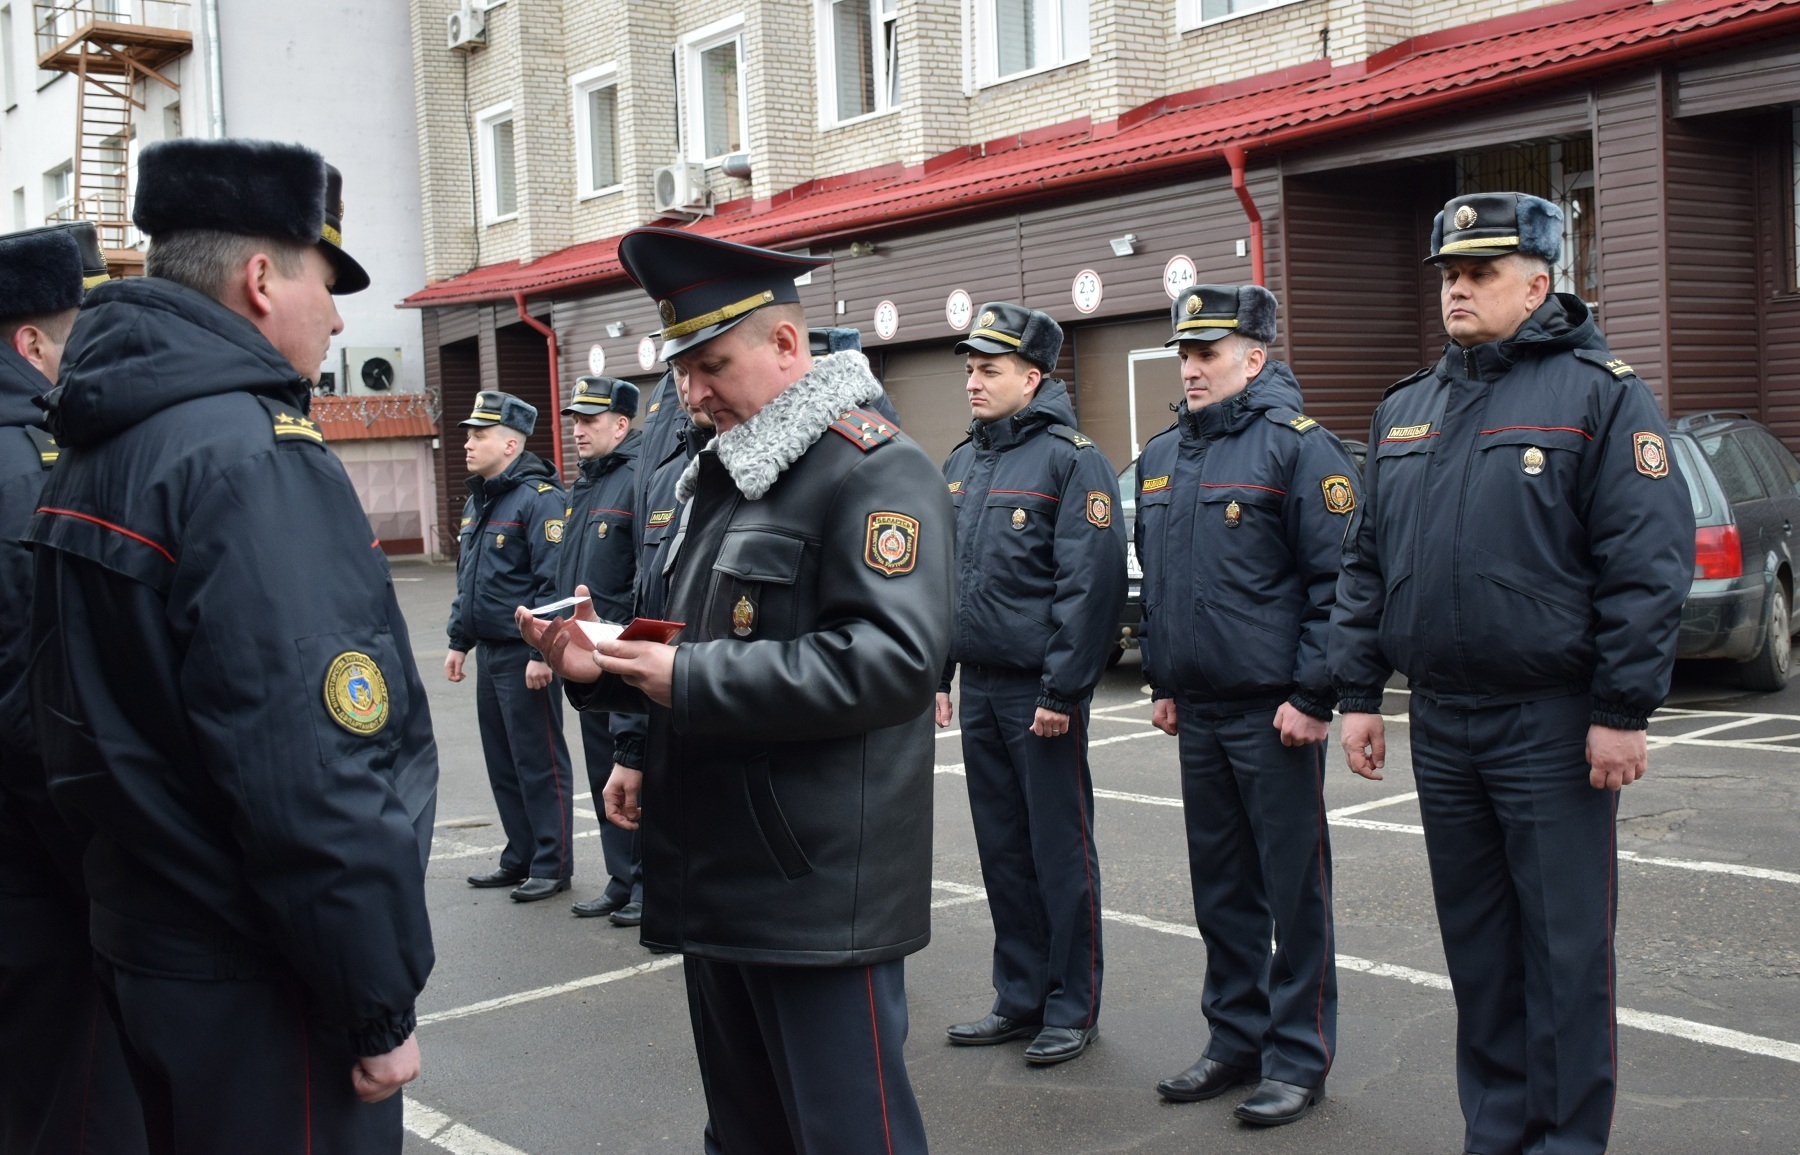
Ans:
[[[1350,768],[1411,685],[1471,1151],[1604,1151],[1616,1094],[1618,790],[1669,691],[1694,515],[1651,390],[1553,293],[1562,212],[1444,205],[1449,344],[1375,410],[1330,667]]]

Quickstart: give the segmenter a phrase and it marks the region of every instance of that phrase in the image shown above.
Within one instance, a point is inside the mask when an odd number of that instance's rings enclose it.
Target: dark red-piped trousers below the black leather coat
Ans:
[[[923,1155],[902,959],[684,966],[707,1155]]]

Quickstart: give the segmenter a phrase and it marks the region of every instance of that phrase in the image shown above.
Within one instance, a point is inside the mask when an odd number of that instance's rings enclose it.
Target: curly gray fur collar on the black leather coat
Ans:
[[[814,358],[812,369],[743,425],[725,430],[702,453],[718,453],[738,493],[756,500],[769,493],[781,471],[799,461],[846,408],[882,396],[869,372],[869,358],[853,349]],[[675,482],[675,497],[688,500],[700,477],[695,455]]]

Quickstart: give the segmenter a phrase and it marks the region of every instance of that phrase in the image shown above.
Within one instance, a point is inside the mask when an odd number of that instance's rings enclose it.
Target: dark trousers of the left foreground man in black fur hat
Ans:
[[[151,1155],[400,1153],[401,1097],[356,1097],[347,1033],[308,1015],[292,977],[171,979],[104,959],[95,970]]]

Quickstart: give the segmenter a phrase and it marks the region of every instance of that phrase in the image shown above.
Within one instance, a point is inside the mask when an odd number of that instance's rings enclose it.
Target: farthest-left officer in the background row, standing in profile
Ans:
[[[520,903],[567,891],[574,876],[574,775],[562,732],[562,694],[551,685],[551,667],[518,640],[513,626],[517,606],[554,601],[563,542],[567,504],[556,471],[526,448],[536,423],[533,405],[497,390],[475,394],[475,410],[463,421],[470,479],[445,655],[445,676],[461,682],[468,651],[481,646],[481,752],[506,829],[500,865],[470,874],[468,885],[511,887]]]

